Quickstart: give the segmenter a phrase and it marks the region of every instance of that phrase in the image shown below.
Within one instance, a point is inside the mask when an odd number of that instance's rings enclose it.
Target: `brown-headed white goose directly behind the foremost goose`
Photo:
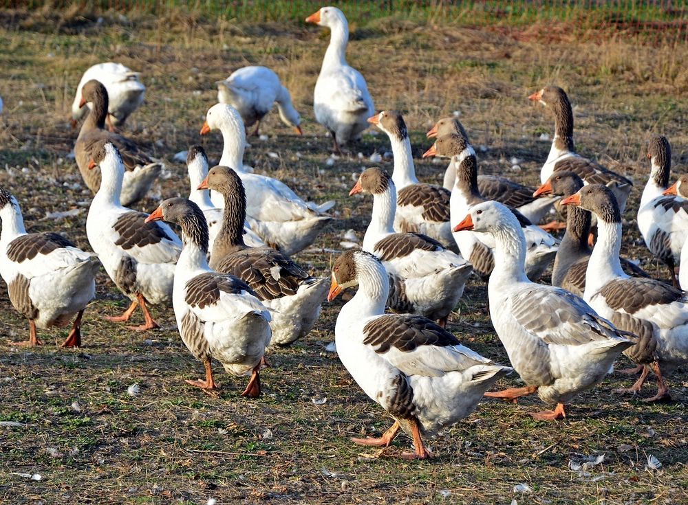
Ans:
[[[373,195],[363,250],[380,258],[389,273],[389,308],[434,319],[444,328],[473,267],[428,236],[394,232],[396,190],[384,170],[365,170],[349,194],[360,192]]]

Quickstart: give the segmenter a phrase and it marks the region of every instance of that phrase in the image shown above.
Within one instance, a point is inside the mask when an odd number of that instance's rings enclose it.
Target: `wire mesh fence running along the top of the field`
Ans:
[[[327,0],[325,0],[325,4]],[[661,35],[688,41],[685,0],[344,0],[332,1],[351,23],[396,16],[460,26],[527,27],[568,23],[583,30]],[[323,0],[0,0],[5,8],[55,10],[78,8],[120,13],[166,15],[185,12],[208,19],[303,21]],[[546,30],[546,27],[544,28]]]

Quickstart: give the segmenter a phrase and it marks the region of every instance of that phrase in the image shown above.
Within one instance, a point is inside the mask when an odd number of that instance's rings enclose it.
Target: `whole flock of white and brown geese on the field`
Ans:
[[[140,307],[144,324],[134,329],[150,330],[158,324],[149,307],[171,300],[182,340],[205,369],[203,379],[187,382],[217,388],[216,360],[227,372],[250,375],[241,394],[258,396],[266,348],[307,335],[325,298],[357,286],[336,321],[336,350],[358,385],[395,419],[380,438],[354,439],[359,444],[385,447],[402,429],[415,448],[402,456],[427,458],[423,438],[468,416],[483,396],[517,401],[537,393],[554,408],[533,412],[535,418],[566,417],[565,405],[599,384],[622,352],[640,374],[627,391],[640,392],[654,372],[658,392],[645,400],[665,399],[665,375],[688,359],[688,305],[680,289],[688,285],[688,267],[675,276],[682,251],[688,256],[682,247],[688,176],[669,186],[667,139],[649,144],[652,168],[637,221],[649,251],[669,268],[669,283],[619,256],[632,182],[576,152],[562,89],[545,87],[529,97],[555,117],[539,188],[478,175],[475,150],[453,117],[428,132],[435,140],[423,155],[449,159],[444,185],[422,183],[402,115],[374,113],[363,76],[347,65],[344,14],[323,7],[306,21],[332,32],[314,115],[334,149],[371,124],[391,142],[392,174],[369,168],[350,191],[373,199],[362,250],[336,259],[331,282],[290,258],[332,221],[327,210],[334,203],[304,201],[244,164],[246,128],[255,124],[258,133],[274,103],[281,120],[301,134],[289,91],[265,67],[245,67],[217,83],[219,103],[208,109],[200,133],[222,133],[222,159],[209,168],[203,148],[189,149],[189,198],[166,199],[152,214],[130,208],[162,170],[114,131],[142,103],[145,88],[127,67],[96,65],[79,83],[73,107],[75,122],[87,112],[74,154],[94,192],[86,220],[94,254],[61,234],[28,233],[19,203],[0,188],[0,273],[30,325],[22,344],[41,344],[36,328],[72,322],[62,345],[80,346],[102,265],[131,300],[122,315],[107,319],[128,322]],[[537,225],[554,207],[566,216],[561,241],[548,233],[559,223]],[[177,225],[181,238],[167,223]],[[552,285],[534,282],[552,262]],[[482,357],[445,329],[473,272],[488,282],[491,319],[510,366]],[[513,370],[523,387],[488,392]]]

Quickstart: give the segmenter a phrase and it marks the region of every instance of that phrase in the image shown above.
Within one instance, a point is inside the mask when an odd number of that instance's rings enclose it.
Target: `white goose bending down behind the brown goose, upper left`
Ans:
[[[143,103],[146,87],[139,80],[140,75],[121,63],[113,62],[98,63],[87,69],[76,87],[76,95],[72,102],[73,126],[76,126],[76,121],[88,110],[81,107],[79,102],[81,88],[92,79],[103,83],[107,89],[107,124],[110,131],[114,130],[114,126],[124,124],[127,117]]]

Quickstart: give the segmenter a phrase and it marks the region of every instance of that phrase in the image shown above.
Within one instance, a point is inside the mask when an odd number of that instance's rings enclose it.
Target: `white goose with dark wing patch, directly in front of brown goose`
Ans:
[[[125,166],[114,144],[101,142],[94,148],[89,166],[96,165],[100,165],[103,180],[89,208],[86,234],[107,275],[131,300],[125,313],[105,319],[127,322],[140,305],[145,323],[132,329],[158,328],[148,304],[171,300],[182,241],[165,223],[146,223],[148,214],[122,206]]]

